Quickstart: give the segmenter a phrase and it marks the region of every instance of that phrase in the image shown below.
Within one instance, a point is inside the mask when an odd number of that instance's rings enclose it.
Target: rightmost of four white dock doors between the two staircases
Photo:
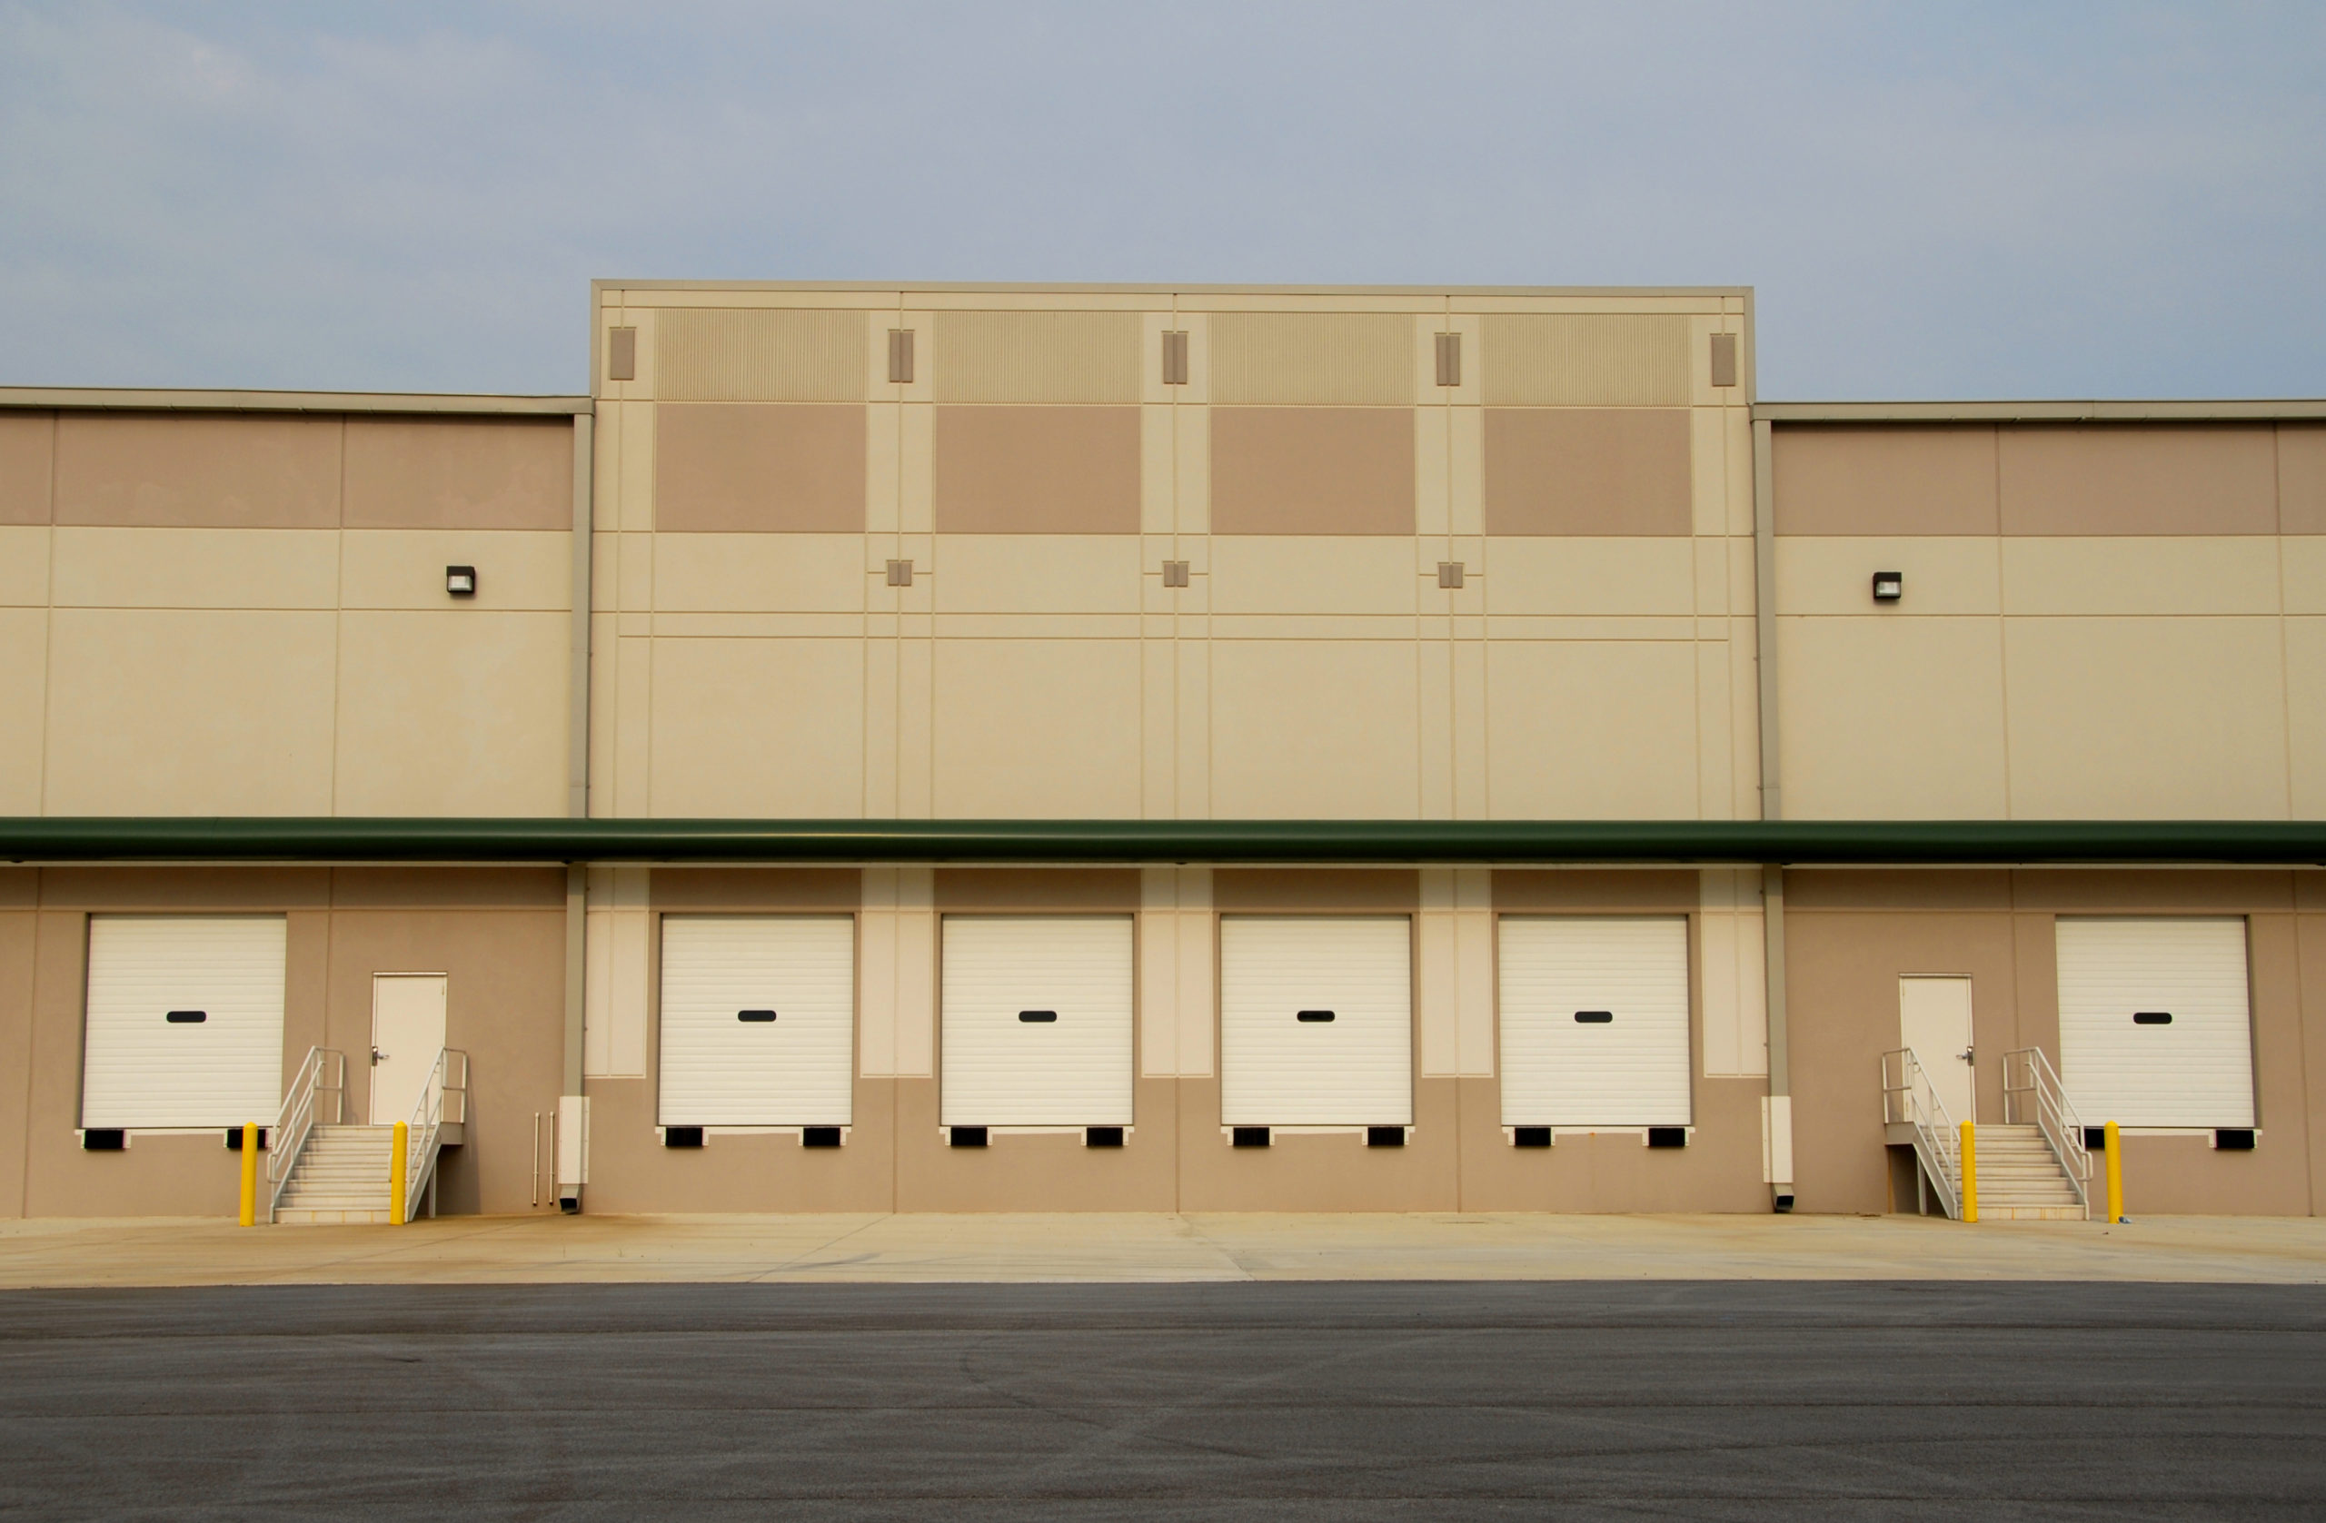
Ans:
[[[1503,916],[1500,944],[1503,1125],[1689,1125],[1686,916]]]

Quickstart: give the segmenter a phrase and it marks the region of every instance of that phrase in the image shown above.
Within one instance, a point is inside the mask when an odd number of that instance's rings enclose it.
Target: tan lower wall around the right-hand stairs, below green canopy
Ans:
[[[2249,923],[2252,1153],[2205,1137],[2124,1139],[2126,1211],[2307,1216],[2319,1209],[2326,1097],[2326,874],[2317,872],[1793,872],[1786,1009],[1796,1202],[1912,1211],[1884,1151],[1882,1053],[1898,1046],[1898,979],[1968,974],[1977,1118],[2003,1118],[2003,1053],[2059,1060],[2054,921],[2063,914],[2242,914]],[[2105,1116],[2084,1116],[2098,1125]]]

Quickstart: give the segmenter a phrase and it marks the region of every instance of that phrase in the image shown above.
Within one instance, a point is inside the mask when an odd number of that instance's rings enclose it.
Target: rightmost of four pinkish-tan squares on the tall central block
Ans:
[[[1489,535],[1686,535],[1682,409],[1489,407]]]

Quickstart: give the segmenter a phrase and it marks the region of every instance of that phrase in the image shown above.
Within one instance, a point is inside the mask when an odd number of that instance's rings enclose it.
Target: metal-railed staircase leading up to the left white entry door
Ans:
[[[277,1118],[267,1156],[267,1221],[284,1225],[393,1223],[395,1125],[342,1125],[344,1070],[340,1053],[312,1049]],[[330,1121],[321,1121],[323,1114]],[[435,1216],[437,1158],[468,1135],[468,1053],[437,1053],[428,1084],[405,1123],[405,1209]]]

